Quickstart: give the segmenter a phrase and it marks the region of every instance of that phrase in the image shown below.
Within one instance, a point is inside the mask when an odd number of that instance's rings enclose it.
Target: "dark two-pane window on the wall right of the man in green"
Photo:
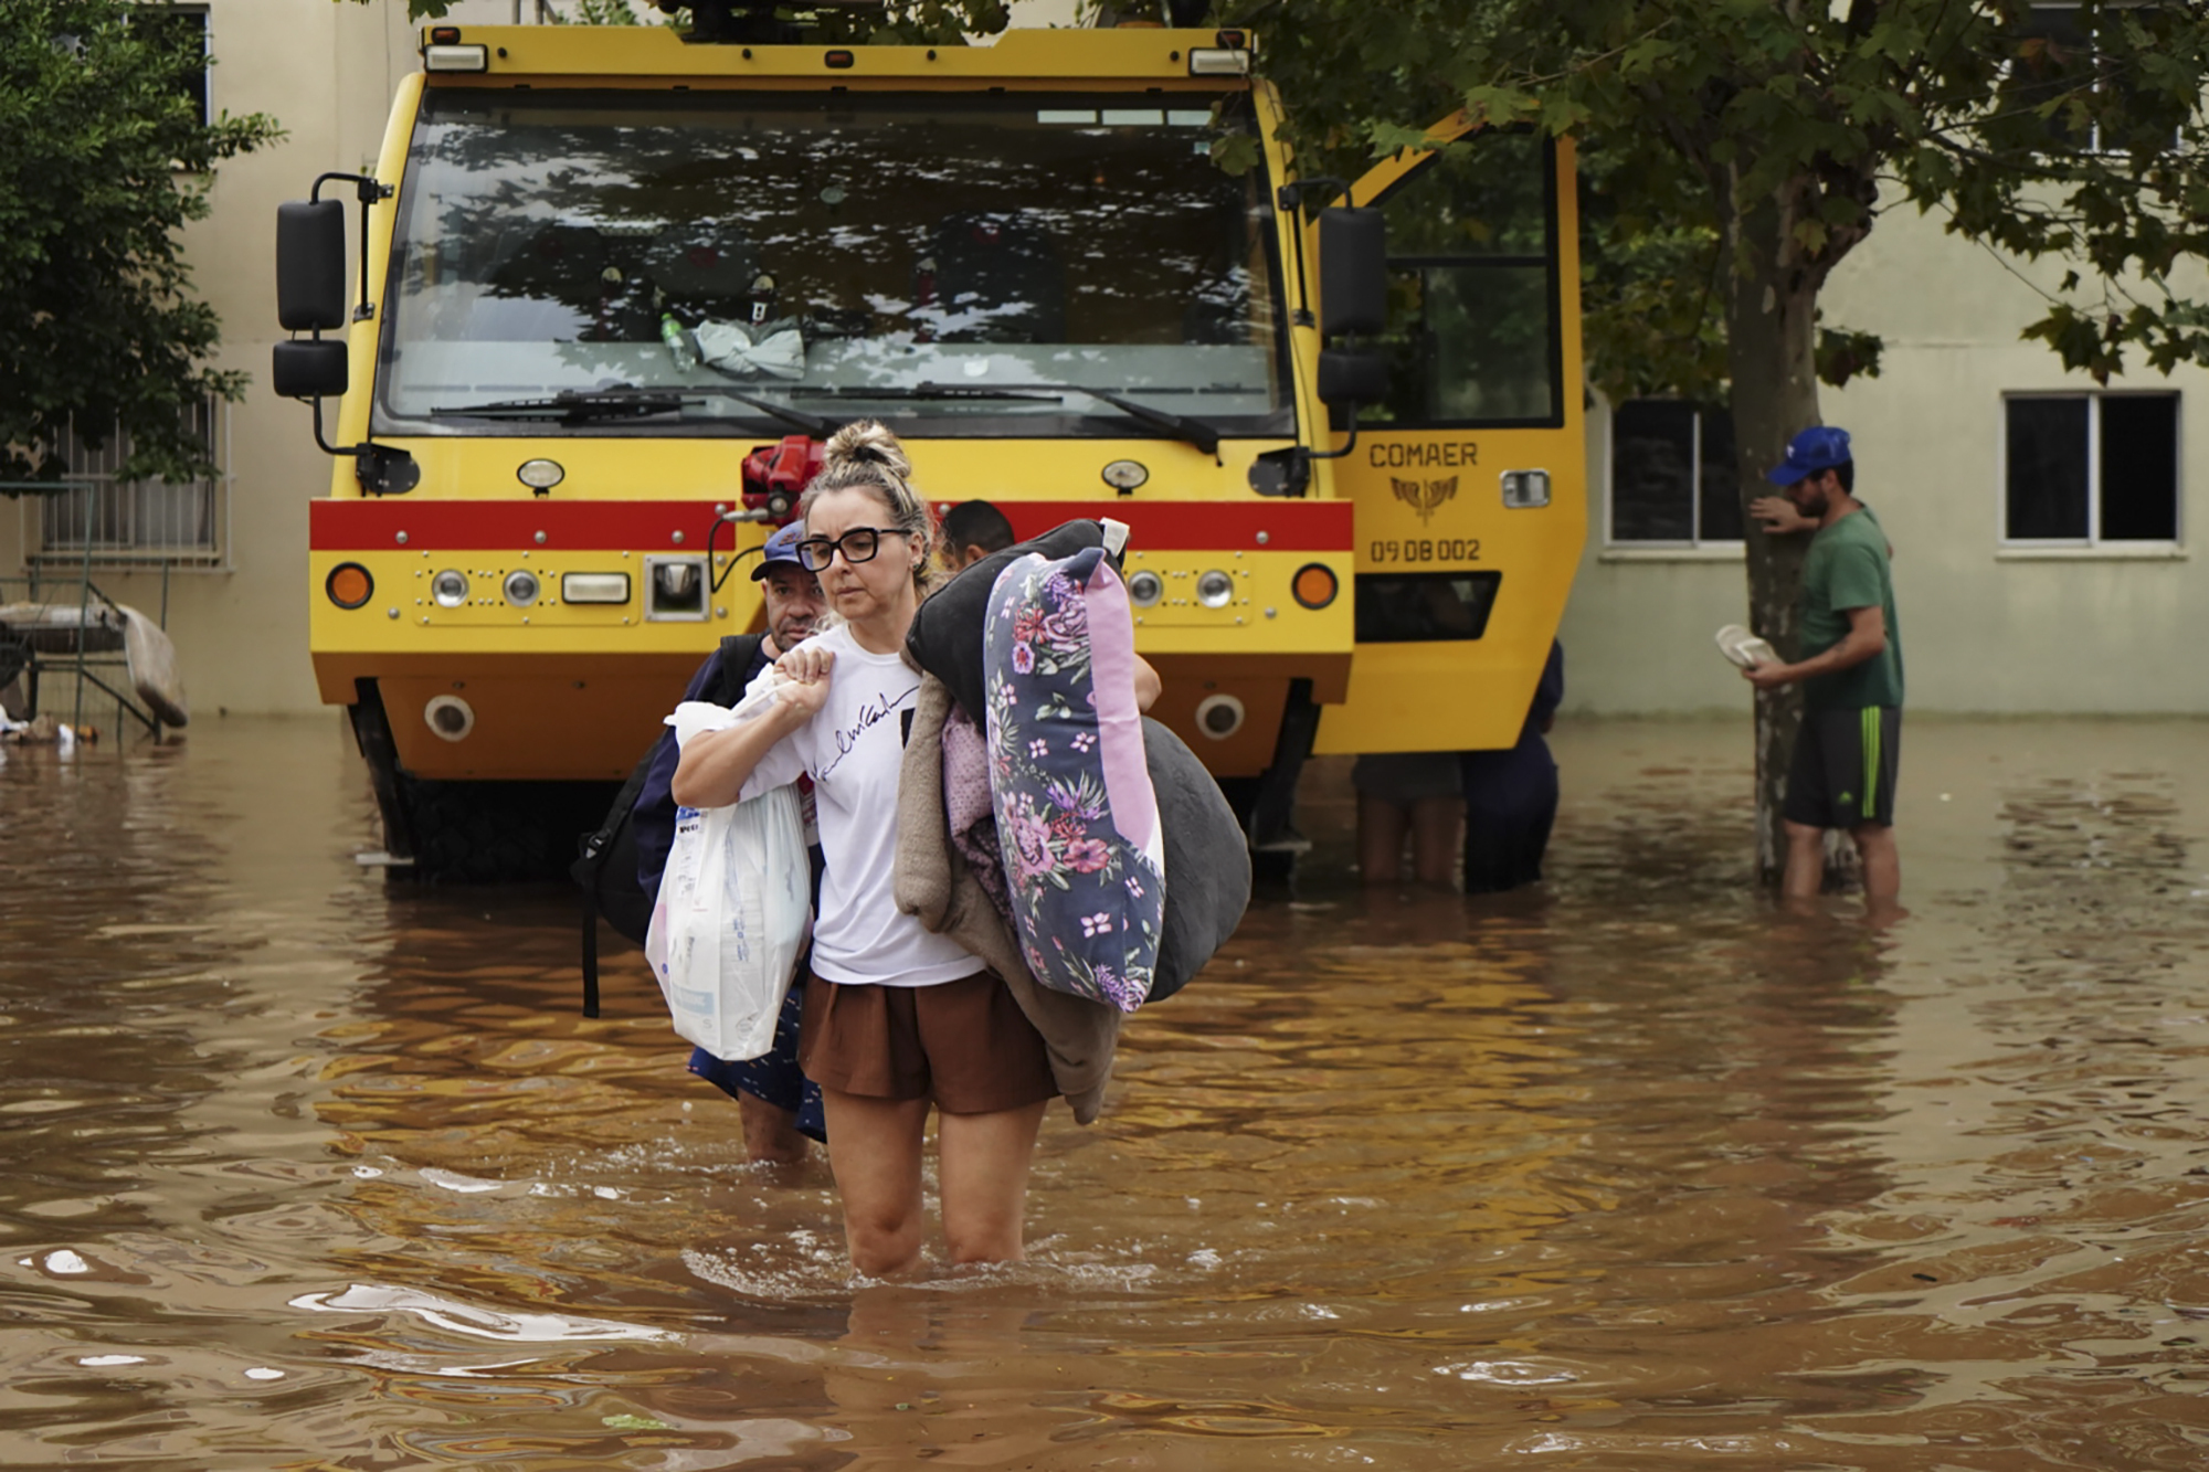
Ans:
[[[2176,393],[2012,393],[2004,420],[2004,542],[2178,542]]]

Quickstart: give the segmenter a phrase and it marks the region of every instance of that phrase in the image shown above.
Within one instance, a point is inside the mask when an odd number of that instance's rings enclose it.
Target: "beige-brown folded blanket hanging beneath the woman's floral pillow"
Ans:
[[[1120,1010],[1038,986],[1005,917],[952,849],[943,816],[943,721],[950,709],[952,696],[943,681],[923,676],[912,732],[906,736],[906,767],[897,778],[897,908],[937,935],[952,937],[1005,977],[1012,999],[1043,1034],[1058,1092],[1067,1096],[1074,1118],[1087,1125],[1104,1107],[1111,1054],[1120,1041]]]

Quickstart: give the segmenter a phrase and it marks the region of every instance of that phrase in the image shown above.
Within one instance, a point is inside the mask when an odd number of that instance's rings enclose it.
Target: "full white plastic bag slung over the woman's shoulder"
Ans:
[[[676,740],[749,716],[685,701],[669,716]],[[775,1043],[791,968],[813,924],[811,873],[797,787],[731,807],[678,807],[676,842],[645,930],[676,1034],[742,1063]]]

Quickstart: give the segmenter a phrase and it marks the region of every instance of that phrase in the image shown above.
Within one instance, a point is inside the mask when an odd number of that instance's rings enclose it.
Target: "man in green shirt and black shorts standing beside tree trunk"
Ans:
[[[1825,831],[1847,829],[1864,860],[1864,900],[1902,891],[1895,771],[1902,747],[1902,628],[1886,533],[1856,500],[1849,431],[1814,424],[1765,471],[1780,497],[1750,506],[1765,530],[1809,530],[1803,559],[1800,659],[1743,670],[1758,690],[1803,685],[1803,729],[1787,769],[1787,877],[1811,897],[1825,877]]]

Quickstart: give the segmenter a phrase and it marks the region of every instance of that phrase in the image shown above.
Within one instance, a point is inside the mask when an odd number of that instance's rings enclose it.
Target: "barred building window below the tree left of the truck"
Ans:
[[[190,411],[192,431],[208,446],[210,460],[225,464],[221,451],[221,407],[208,400]],[[29,559],[42,566],[82,564],[86,553],[95,566],[177,564],[221,568],[230,555],[228,473],[208,480],[121,480],[117,469],[130,458],[130,435],[113,431],[102,444],[91,444],[75,427],[60,444],[64,471],[73,482],[57,495],[24,502],[24,515],[35,515],[27,528]]]

